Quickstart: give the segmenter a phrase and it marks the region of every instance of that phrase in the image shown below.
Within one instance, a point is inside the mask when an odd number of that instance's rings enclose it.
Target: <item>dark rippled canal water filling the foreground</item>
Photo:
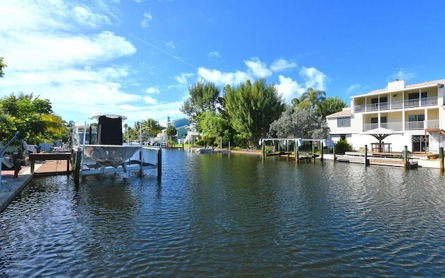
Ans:
[[[163,150],[156,170],[33,179],[0,277],[444,277],[439,170]]]

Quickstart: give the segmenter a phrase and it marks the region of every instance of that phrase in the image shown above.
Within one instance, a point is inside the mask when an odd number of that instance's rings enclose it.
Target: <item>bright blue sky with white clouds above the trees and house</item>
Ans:
[[[284,101],[445,78],[445,1],[0,0],[0,97],[166,126],[198,81],[264,78]]]

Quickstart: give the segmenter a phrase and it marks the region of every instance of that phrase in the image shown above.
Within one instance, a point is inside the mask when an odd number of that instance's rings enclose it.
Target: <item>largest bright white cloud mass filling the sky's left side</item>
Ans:
[[[65,115],[119,113],[123,104],[140,103],[140,95],[125,91],[133,70],[110,65],[136,48],[111,31],[95,31],[110,24],[109,10],[60,0],[2,3],[0,53],[8,72],[0,91],[33,92]]]

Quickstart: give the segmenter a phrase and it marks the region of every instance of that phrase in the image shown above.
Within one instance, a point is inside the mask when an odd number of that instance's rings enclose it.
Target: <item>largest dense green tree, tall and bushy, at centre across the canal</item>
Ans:
[[[259,79],[252,84],[250,80],[236,88],[225,87],[224,95],[227,113],[235,131],[256,145],[265,136],[269,125],[284,111],[284,102],[274,85]]]

